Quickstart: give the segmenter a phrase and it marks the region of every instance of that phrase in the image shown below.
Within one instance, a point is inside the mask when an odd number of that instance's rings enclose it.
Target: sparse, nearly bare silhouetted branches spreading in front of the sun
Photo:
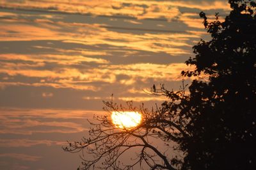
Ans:
[[[133,169],[136,165],[144,165],[150,169],[177,169],[179,158],[157,149],[150,143],[150,138],[158,139],[162,144],[170,146],[170,141],[176,142],[180,138],[189,135],[184,128],[186,121],[179,117],[177,102],[186,98],[185,86],[178,92],[161,88],[152,88],[155,95],[164,95],[170,98],[170,102],[164,102],[161,107],[147,109],[142,105],[134,107],[132,102],[126,106],[113,103],[113,99],[104,102],[104,110],[111,112],[140,111],[143,121],[133,128],[116,127],[108,116],[94,116],[97,123],[90,122],[93,128],[89,131],[89,137],[84,137],[80,142],[69,143],[63,148],[69,152],[86,151],[92,158],[81,157],[83,167],[81,169]],[[172,110],[172,112],[170,112]],[[160,143],[155,143],[158,145]],[[132,157],[129,164],[120,162],[122,155],[136,148],[136,157]],[[134,150],[133,150],[134,151]],[[176,157],[175,157],[176,156]],[[122,159],[121,159],[122,161]],[[176,167],[175,167],[176,165]],[[78,168],[80,169],[80,168]]]

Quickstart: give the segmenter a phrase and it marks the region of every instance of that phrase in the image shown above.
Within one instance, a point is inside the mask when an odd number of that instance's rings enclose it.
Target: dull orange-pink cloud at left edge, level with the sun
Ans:
[[[78,132],[84,132],[88,130],[88,127],[86,127],[86,125],[84,125],[80,121],[86,121],[86,117],[92,118],[93,113],[96,112],[49,109],[1,109],[0,123],[2,127],[0,130],[0,134],[74,134]],[[99,112],[97,113],[99,114]],[[0,140],[0,143],[2,143],[2,145],[3,143],[5,143],[3,140]],[[20,145],[23,146],[36,144],[51,145],[61,143],[61,141],[49,140],[31,141],[27,139],[22,139],[20,141]]]

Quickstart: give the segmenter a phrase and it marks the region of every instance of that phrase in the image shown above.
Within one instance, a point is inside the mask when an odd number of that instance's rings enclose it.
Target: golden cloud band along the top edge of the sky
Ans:
[[[175,8],[196,8],[199,10],[230,10],[226,1],[138,1],[138,0],[108,0],[108,1],[72,1],[68,2],[55,2],[55,1],[26,1],[26,4],[15,5],[8,3],[12,6],[30,6],[31,8],[44,8],[54,10],[71,12],[71,13],[92,13],[93,15],[128,15],[132,17],[142,18],[157,18],[166,17],[172,18],[177,15],[179,11]],[[165,13],[165,15],[164,15]]]

